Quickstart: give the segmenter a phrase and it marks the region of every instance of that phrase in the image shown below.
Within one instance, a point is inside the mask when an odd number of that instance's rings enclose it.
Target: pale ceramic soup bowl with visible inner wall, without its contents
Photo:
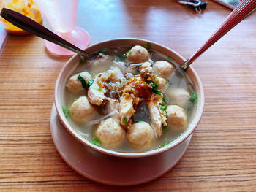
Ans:
[[[124,38],[124,39],[110,39],[104,42],[99,42],[97,44],[91,45],[86,48],[86,51],[88,53],[95,53],[99,50],[102,50],[106,47],[120,47],[120,46],[130,46],[133,45],[146,45],[148,41],[145,39],[133,39],[133,38]],[[176,61],[177,64],[182,64],[185,59],[176,53],[175,51],[171,50],[168,47],[165,47],[163,45],[159,45],[156,42],[150,42],[151,49],[157,50],[159,53],[163,53],[164,55],[169,56],[174,61]],[[184,142],[189,135],[192,134],[192,132],[197,127],[197,124],[200,121],[200,118],[203,113],[203,105],[204,105],[204,94],[203,94],[203,86],[200,81],[200,78],[197,75],[197,72],[195,72],[195,69],[193,69],[192,66],[189,66],[189,69],[187,69],[187,74],[189,75],[190,79],[192,80],[195,90],[197,92],[197,109],[195,112],[194,117],[192,118],[192,121],[189,125],[189,128],[187,128],[186,131],[184,131],[184,134],[181,135],[181,137],[178,137],[175,141],[171,142],[170,145],[167,145],[166,147],[159,148],[157,150],[148,150],[143,153],[121,153],[117,152],[115,150],[109,150],[105,149],[103,147],[99,147],[97,145],[91,144],[91,142],[79,134],[79,132],[70,126],[69,121],[67,118],[65,118],[64,113],[62,112],[62,105],[65,105],[64,102],[64,91],[65,91],[65,85],[67,82],[67,78],[72,74],[72,72],[75,70],[76,66],[79,64],[80,56],[74,55],[72,58],[67,61],[67,64],[64,65],[64,67],[61,69],[61,72],[59,73],[59,77],[56,81],[56,87],[55,87],[55,105],[56,110],[59,115],[59,118],[61,122],[64,124],[65,128],[67,128],[67,131],[69,131],[70,134],[72,134],[75,139],[78,139],[80,142],[82,142],[84,145],[87,145],[91,147],[94,150],[97,150],[101,153],[105,153],[108,155],[114,155],[122,158],[141,158],[146,157],[150,155],[157,155],[159,153],[164,153],[167,150],[172,149],[173,147],[176,147],[177,145],[180,145],[181,142]]]

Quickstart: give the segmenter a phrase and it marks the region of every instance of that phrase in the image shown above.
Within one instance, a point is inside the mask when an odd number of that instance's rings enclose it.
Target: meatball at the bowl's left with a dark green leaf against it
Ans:
[[[80,76],[83,77],[83,79],[86,82],[91,80],[91,74],[89,74],[89,72],[81,72],[81,73],[72,75],[71,77],[69,77],[69,80],[67,80],[67,85],[66,85],[67,89],[71,93],[83,93],[83,91],[84,91],[82,82],[80,82],[80,80],[78,80],[79,74],[80,74]]]

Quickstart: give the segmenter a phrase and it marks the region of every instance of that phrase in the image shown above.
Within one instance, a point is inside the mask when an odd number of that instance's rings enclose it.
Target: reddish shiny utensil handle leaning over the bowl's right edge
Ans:
[[[195,53],[192,55],[184,64],[181,64],[181,69],[186,70],[187,67],[195,61],[203,52],[205,52],[211,45],[214,45],[217,40],[222,38],[228,31],[230,31],[234,26],[244,20],[248,15],[254,12],[256,9],[256,1],[255,0],[244,0],[238,4],[238,7],[233,9],[233,12],[227,16],[227,18],[223,21],[221,26],[217,28],[214,34],[209,37],[209,39],[205,42],[203,46],[201,46]]]

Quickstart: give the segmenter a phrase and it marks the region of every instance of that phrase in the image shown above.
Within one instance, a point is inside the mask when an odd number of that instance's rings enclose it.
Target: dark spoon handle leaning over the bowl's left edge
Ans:
[[[39,23],[31,20],[30,18],[26,17],[25,15],[20,14],[19,12],[12,11],[11,9],[3,8],[1,9],[1,17],[5,20],[8,20],[13,25],[17,26],[18,28],[23,29],[24,31],[28,31],[31,34],[34,34],[42,39],[46,39],[49,42],[53,42],[56,45],[60,45],[61,47],[67,48],[79,55],[90,58],[91,55],[86,53],[85,51],[81,50],[80,48],[72,45],[71,43],[67,42],[65,39],[62,39],[58,35],[54,34],[52,31],[48,30],[44,26],[40,25]]]

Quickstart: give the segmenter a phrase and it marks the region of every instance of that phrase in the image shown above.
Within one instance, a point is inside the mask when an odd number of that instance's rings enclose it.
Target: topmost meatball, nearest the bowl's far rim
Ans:
[[[128,60],[135,63],[143,63],[148,61],[149,57],[150,54],[148,53],[148,50],[146,50],[144,47],[141,47],[140,45],[135,45],[127,53]]]

